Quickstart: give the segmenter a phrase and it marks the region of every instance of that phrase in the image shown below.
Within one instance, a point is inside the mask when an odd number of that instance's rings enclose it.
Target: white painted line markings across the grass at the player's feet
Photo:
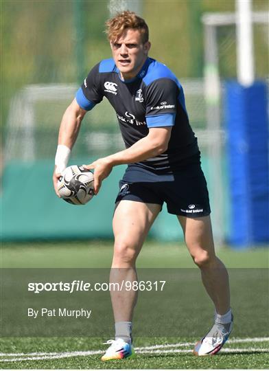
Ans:
[[[229,344],[238,343],[259,343],[269,341],[269,337],[253,337],[246,339],[230,339]],[[193,342],[177,343],[177,344],[160,344],[155,346],[143,346],[134,348],[138,354],[161,354],[161,353],[188,353],[192,352],[189,349],[174,349],[178,347],[193,346]],[[167,348],[164,350],[164,348]],[[268,352],[268,348],[223,348],[222,352],[236,353],[236,352]],[[88,355],[100,355],[104,350],[87,350],[87,351],[74,351],[74,352],[32,352],[32,353],[0,353],[1,357],[16,357],[0,359],[3,362],[14,361],[38,361],[41,359],[61,359],[68,357],[86,357]]]

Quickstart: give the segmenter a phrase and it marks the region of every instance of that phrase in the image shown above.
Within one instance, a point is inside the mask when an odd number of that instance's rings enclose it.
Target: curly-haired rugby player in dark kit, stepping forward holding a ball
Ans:
[[[96,159],[87,168],[94,169],[97,194],[113,166],[128,165],[115,201],[110,281],[137,280],[137,256],[165,202],[168,212],[178,218],[189,253],[215,305],[213,327],[198,341],[194,353],[213,355],[232,329],[229,277],[215,256],[207,182],[183,87],[172,71],[148,57],[148,25],[141,17],[121,12],[106,26],[113,58],[91,69],[62,117],[53,176],[56,194],[84,115],[106,97],[117,114],[126,149]],[[132,314],[137,291],[111,291],[110,295],[115,340],[108,341],[104,361],[133,354]]]

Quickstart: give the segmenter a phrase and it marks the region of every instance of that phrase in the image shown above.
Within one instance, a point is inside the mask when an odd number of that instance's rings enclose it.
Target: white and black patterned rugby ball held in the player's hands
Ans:
[[[93,172],[83,166],[68,166],[58,181],[58,192],[73,205],[85,205],[94,195]]]

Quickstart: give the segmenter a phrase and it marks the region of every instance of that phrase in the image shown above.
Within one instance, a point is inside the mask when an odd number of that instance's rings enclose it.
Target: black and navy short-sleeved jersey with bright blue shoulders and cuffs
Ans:
[[[82,109],[89,111],[104,96],[115,109],[126,148],[148,135],[149,128],[173,126],[167,150],[136,163],[137,166],[171,172],[199,153],[189,125],[183,88],[162,63],[147,58],[135,78],[121,80],[113,58],[102,60],[85,78],[75,99]]]

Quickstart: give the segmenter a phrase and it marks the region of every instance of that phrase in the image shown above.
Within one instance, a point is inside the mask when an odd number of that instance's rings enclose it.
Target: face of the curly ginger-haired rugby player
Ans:
[[[139,30],[128,28],[116,41],[110,41],[110,47],[121,78],[128,80],[137,76],[145,63],[150,42],[143,44]]]

